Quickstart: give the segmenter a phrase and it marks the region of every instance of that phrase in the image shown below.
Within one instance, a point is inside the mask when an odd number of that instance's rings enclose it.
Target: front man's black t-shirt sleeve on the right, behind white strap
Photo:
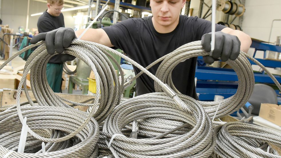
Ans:
[[[192,23],[193,23],[193,27],[192,27],[193,32],[196,33],[196,35],[194,35],[194,37],[196,37],[196,39],[194,39],[194,41],[201,40],[201,37],[204,34],[212,32],[212,22],[211,21],[201,19],[198,17],[193,17]],[[226,26],[216,24],[216,32],[221,31],[224,28],[226,28]]]

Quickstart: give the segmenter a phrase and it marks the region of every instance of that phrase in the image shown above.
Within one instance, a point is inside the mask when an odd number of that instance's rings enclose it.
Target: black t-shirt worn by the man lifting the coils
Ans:
[[[216,25],[216,31],[224,29]],[[211,22],[198,17],[180,15],[179,24],[170,33],[158,33],[152,23],[152,16],[131,18],[116,25],[104,27],[111,44],[122,49],[128,57],[147,67],[160,57],[174,51],[178,47],[192,41],[201,40],[202,35],[211,32]],[[198,99],[194,77],[197,58],[179,63],[172,72],[175,87],[185,95]],[[149,69],[155,75],[160,64]],[[140,70],[134,67],[135,74]],[[137,95],[155,92],[154,80],[145,74],[137,78]]]

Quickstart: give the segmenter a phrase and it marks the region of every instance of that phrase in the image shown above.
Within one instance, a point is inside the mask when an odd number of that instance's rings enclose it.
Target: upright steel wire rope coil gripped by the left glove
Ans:
[[[72,103],[74,105],[84,105],[84,106],[93,106],[93,110],[89,113],[89,116],[87,119],[84,121],[84,123],[77,128],[73,133],[70,133],[69,135],[61,138],[44,138],[41,137],[40,135],[34,133],[31,129],[28,129],[29,133],[33,136],[36,137],[37,139],[41,141],[46,141],[46,142],[59,142],[59,141],[65,141],[71,137],[73,137],[75,134],[77,134],[79,131],[85,127],[87,122],[91,119],[91,117],[95,117],[95,119],[98,122],[102,122],[105,117],[110,113],[110,111],[113,109],[113,107],[119,103],[120,98],[121,98],[121,92],[123,91],[123,87],[121,87],[119,83],[119,79],[114,71],[113,65],[109,61],[109,59],[106,57],[106,55],[109,55],[113,59],[113,57],[100,49],[97,49],[93,45],[71,45],[69,48],[65,49],[65,53],[69,53],[71,55],[76,55],[78,58],[82,58],[82,60],[87,63],[92,70],[95,73],[96,76],[96,81],[97,81],[97,91],[101,91],[101,97],[99,98],[100,94],[98,93],[96,95],[96,98],[93,101],[92,104],[81,104],[81,103],[75,103],[72,101],[68,101],[66,99],[63,99],[51,90],[49,85],[47,84],[47,79],[45,77],[45,69],[47,65],[47,61],[49,58],[51,58],[53,55],[49,55],[47,51],[45,50],[45,44],[43,42],[39,42],[36,45],[42,44],[39,46],[29,57],[25,64],[25,68],[23,71],[23,78],[21,79],[19,83],[19,87],[25,88],[25,94],[27,96],[27,99],[29,103],[32,106],[35,106],[33,101],[30,99],[30,96],[27,92],[26,88],[26,75],[27,72],[30,70],[30,76],[31,76],[31,88],[33,90],[33,95],[38,102],[39,105],[49,105],[49,106],[65,106],[69,107],[66,103],[63,101],[66,101],[68,103]],[[30,45],[30,47],[34,47],[36,45]],[[29,49],[27,47],[26,49]],[[23,49],[22,51],[25,51]],[[81,52],[87,52],[87,53],[81,53]],[[22,53],[21,51],[17,52],[15,55],[13,55],[11,58],[9,58],[7,61],[5,61],[1,66],[0,69],[3,68],[9,61],[11,61],[14,57],[16,57],[18,54]],[[89,55],[89,53],[93,53]],[[114,59],[113,59],[114,61]],[[108,65],[106,65],[106,63]],[[115,61],[117,64],[117,62]],[[102,66],[100,66],[102,65]],[[121,67],[119,67],[121,69]],[[105,72],[103,72],[105,71]],[[123,73],[121,73],[123,75]],[[116,83],[115,85],[113,83]],[[121,84],[123,84],[123,79]],[[100,86],[101,85],[101,86]],[[47,87],[47,88],[46,88]],[[101,87],[101,88],[100,88]],[[23,121],[23,116],[21,114],[20,110],[20,89],[18,89],[17,93],[17,111],[19,118],[21,122]],[[28,123],[27,123],[28,124]]]

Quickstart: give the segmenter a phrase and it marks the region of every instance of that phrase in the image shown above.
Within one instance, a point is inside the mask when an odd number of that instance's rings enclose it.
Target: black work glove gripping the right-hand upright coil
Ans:
[[[202,36],[202,46],[206,52],[211,51],[211,33]],[[237,36],[215,32],[215,49],[212,56],[203,57],[205,63],[212,64],[218,61],[219,57],[222,61],[235,60],[240,54],[240,41]]]

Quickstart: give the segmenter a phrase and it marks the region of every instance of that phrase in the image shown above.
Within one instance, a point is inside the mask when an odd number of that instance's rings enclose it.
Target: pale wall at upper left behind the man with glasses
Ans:
[[[3,25],[8,24],[18,32],[20,26],[26,27],[28,0],[2,0],[1,1],[1,19]],[[29,2],[29,21],[28,28],[37,29],[37,20],[40,15],[31,17],[31,14],[44,12],[47,9],[47,3],[30,0]],[[74,28],[75,19],[72,17],[77,11],[63,12],[65,27]]]

